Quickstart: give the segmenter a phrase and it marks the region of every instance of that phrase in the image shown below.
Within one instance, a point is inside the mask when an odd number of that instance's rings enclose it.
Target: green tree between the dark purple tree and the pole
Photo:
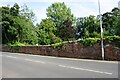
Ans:
[[[100,37],[99,20],[95,16],[81,17],[76,21],[76,38]]]

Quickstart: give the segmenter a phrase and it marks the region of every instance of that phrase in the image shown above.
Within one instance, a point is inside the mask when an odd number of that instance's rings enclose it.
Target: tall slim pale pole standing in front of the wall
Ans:
[[[103,28],[102,28],[102,15],[100,11],[100,1],[98,0],[99,6],[99,16],[100,16],[100,29],[101,29],[101,50],[102,50],[102,59],[104,60],[104,46],[103,46]]]

